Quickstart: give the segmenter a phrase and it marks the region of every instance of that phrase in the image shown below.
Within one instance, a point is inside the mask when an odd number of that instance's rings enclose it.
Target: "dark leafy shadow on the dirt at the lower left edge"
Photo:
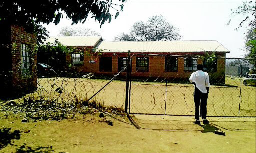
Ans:
[[[7,145],[13,145],[14,139],[20,139],[20,135],[19,130],[11,132],[11,128],[0,129],[0,150]]]

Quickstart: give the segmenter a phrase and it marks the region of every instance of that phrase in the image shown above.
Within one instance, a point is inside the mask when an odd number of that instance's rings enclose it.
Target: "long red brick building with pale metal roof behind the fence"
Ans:
[[[75,37],[75,42],[81,38]],[[66,40],[72,37],[62,37],[62,41],[59,39],[67,46],[76,46],[80,49],[84,47],[79,52],[67,55],[66,58],[67,63],[71,63],[79,72],[115,75],[126,66],[127,52],[130,50],[133,77],[187,80],[191,73],[197,70],[197,64],[207,65],[208,61],[204,57],[214,53],[218,58],[211,60],[210,67],[205,66],[205,71],[208,71],[211,79],[217,80],[217,83],[225,82],[225,57],[230,51],[217,41],[109,42],[102,41],[99,37],[94,38],[94,42],[90,45],[86,43],[86,46],[82,46],[82,43],[67,44]],[[126,72],[121,75],[126,76]]]

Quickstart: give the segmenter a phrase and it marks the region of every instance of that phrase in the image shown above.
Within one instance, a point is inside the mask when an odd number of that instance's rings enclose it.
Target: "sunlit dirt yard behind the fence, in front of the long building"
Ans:
[[[226,78],[227,83],[239,85],[239,80]],[[38,79],[40,98],[51,97],[59,101],[88,99],[109,80],[83,78],[43,78]],[[143,114],[193,115],[193,85],[166,84],[154,82],[132,82],[130,112]],[[55,92],[63,87],[63,93]],[[125,81],[112,81],[93,99],[107,106],[124,107]],[[207,102],[208,116],[255,116],[256,88],[241,85],[236,87],[211,86]],[[241,93],[240,93],[241,91]],[[241,96],[241,97],[240,97]]]

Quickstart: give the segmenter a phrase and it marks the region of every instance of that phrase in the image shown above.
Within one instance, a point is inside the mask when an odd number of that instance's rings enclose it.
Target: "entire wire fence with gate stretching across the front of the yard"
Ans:
[[[37,90],[23,96],[65,104],[94,101],[130,114],[193,116],[188,79],[197,64],[209,74],[208,116],[256,116],[255,60],[216,55],[38,54]]]

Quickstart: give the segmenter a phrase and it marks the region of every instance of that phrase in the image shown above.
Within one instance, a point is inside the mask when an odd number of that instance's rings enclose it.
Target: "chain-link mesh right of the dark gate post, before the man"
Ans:
[[[256,75],[252,74],[255,60],[192,55],[134,56],[131,62],[131,114],[193,116],[194,86],[188,79],[197,70],[197,64],[203,64],[211,84],[208,116],[256,116]]]

